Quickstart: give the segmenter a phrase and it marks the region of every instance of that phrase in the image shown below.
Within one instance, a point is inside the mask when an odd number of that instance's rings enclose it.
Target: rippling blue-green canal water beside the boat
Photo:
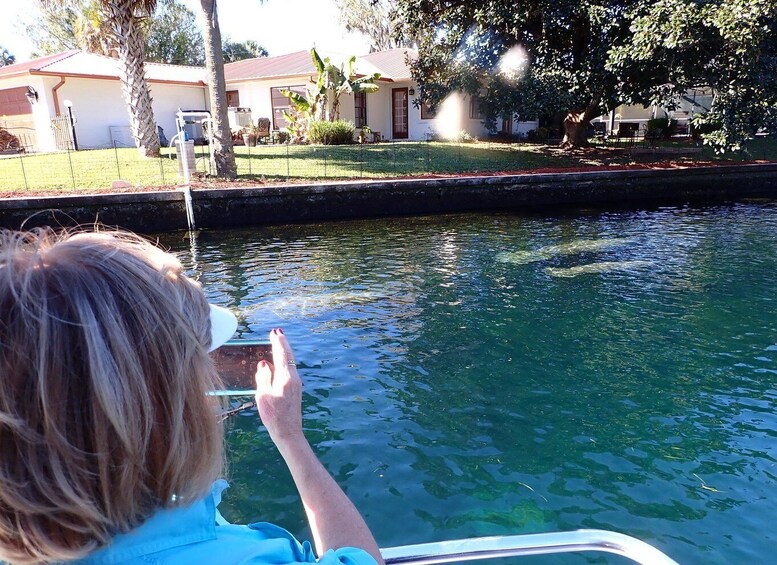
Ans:
[[[381,546],[604,528],[683,563],[777,553],[774,203],[165,243],[241,337],[284,328],[307,435]],[[306,536],[255,414],[228,434],[225,515]],[[530,561],[586,559],[623,562]]]

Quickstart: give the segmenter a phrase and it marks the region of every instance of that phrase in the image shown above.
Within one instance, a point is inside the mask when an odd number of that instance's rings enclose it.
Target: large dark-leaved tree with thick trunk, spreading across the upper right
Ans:
[[[424,101],[463,90],[491,126],[563,112],[566,147],[586,145],[590,120],[619,104],[671,103],[689,85],[717,89],[712,119],[733,123],[743,104],[774,113],[774,73],[761,76],[775,60],[768,0],[400,0],[397,14],[420,38]],[[723,127],[719,141],[741,129]]]

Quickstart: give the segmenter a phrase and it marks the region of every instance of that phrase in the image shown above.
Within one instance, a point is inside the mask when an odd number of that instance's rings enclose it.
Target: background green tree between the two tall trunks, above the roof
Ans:
[[[162,0],[144,31],[149,61],[194,66],[205,62],[194,12],[177,0]]]

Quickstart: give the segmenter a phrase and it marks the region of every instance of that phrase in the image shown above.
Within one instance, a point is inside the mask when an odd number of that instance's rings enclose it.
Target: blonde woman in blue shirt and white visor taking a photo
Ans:
[[[232,331],[178,260],[137,236],[0,233],[0,560],[314,561],[285,530],[226,524],[216,510],[223,429],[208,351]],[[302,433],[282,330],[270,341],[259,414],[320,561],[381,562]]]

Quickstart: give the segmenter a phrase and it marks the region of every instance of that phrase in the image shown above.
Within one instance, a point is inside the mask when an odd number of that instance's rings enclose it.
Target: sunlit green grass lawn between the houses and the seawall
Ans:
[[[662,144],[665,145],[665,144]],[[671,142],[673,147],[693,146]],[[552,145],[478,142],[396,142],[375,145],[269,145],[235,148],[238,182],[359,179],[537,169],[691,162],[777,160],[777,140],[751,142],[749,155],[715,155],[709,148],[689,155],[632,155],[629,147],[594,147],[575,152]],[[209,171],[207,147],[196,147],[197,170]],[[135,149],[98,149],[70,153],[0,156],[0,193],[63,194],[106,189],[113,180],[138,187],[173,186],[182,182],[173,153],[145,159]],[[206,184],[202,180],[200,184]],[[239,184],[231,183],[231,186]]]

